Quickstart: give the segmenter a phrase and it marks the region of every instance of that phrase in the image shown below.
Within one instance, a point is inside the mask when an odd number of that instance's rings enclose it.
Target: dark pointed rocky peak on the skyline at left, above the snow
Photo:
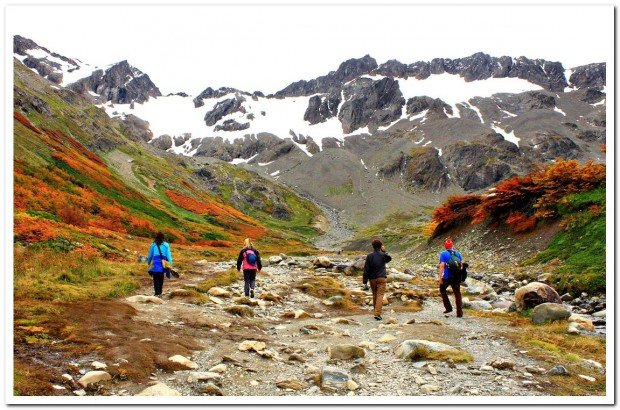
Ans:
[[[131,66],[126,60],[112,67],[94,71],[69,88],[75,92],[88,95],[88,91],[101,96],[103,102],[114,104],[143,103],[151,97],[161,96],[159,88],[151,81],[148,74]]]

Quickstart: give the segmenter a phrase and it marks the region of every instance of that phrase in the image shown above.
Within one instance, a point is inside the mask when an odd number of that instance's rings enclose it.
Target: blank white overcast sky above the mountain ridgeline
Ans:
[[[614,39],[611,6],[13,6],[13,34],[91,64],[126,59],[164,94],[271,93],[365,54],[411,63],[484,51],[568,68],[609,60]]]

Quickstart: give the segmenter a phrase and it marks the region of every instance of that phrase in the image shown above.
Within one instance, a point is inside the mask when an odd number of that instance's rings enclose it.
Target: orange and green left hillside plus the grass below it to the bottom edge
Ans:
[[[289,189],[229,164],[157,151],[18,62],[14,95],[16,394],[54,394],[54,372],[41,363],[97,349],[101,312],[122,311],[125,321],[135,314],[110,299],[148,285],[137,257],[158,231],[181,269],[192,259],[232,258],[245,237],[264,255],[312,252],[320,211]],[[164,350],[151,353],[167,357]],[[43,357],[50,352],[55,361]]]

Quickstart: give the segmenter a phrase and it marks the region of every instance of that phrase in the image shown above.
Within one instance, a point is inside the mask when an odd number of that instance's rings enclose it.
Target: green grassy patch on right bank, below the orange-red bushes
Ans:
[[[605,187],[571,195],[559,209],[565,228],[529,262],[558,261],[558,291],[605,292]]]

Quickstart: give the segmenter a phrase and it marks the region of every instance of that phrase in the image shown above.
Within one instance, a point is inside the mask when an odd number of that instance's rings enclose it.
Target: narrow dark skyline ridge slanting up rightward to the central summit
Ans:
[[[352,58],[340,64],[336,71],[314,80],[300,80],[292,83],[275,93],[275,97],[296,97],[317,93],[329,93],[334,89],[340,89],[347,81],[351,81],[361,75],[368,74],[377,68],[377,61],[366,55],[362,58]]]

